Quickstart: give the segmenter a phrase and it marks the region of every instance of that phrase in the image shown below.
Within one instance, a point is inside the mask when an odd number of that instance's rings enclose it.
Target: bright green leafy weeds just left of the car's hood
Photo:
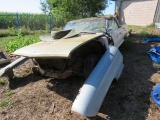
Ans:
[[[19,48],[33,44],[38,41],[40,41],[38,37],[26,37],[22,34],[21,30],[19,30],[18,36],[13,41],[10,41],[5,46],[5,48],[7,52],[14,52]]]

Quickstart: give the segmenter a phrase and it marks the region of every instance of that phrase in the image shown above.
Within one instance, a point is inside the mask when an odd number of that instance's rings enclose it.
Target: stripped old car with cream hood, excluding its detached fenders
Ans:
[[[108,46],[118,48],[127,33],[114,17],[74,20],[64,30],[53,31],[52,39],[23,47],[13,54],[33,58],[35,75],[58,79],[88,76]]]

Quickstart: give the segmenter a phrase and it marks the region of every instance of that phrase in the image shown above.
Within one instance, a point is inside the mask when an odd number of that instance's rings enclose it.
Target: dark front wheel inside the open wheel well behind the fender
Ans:
[[[97,62],[98,62],[98,57],[95,54],[90,54],[85,58],[84,74],[86,78],[90,75],[90,73],[96,66]]]

